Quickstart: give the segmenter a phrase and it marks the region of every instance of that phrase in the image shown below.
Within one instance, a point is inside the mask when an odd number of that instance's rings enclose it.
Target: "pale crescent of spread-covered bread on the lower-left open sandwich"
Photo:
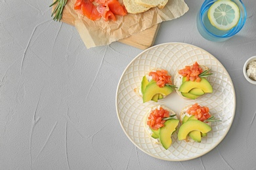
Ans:
[[[151,135],[152,135],[152,131],[150,130],[150,127],[148,126],[147,124],[147,121],[148,121],[148,116],[150,115],[150,113],[152,112],[152,110],[155,110],[155,109],[158,109],[158,108],[163,108],[165,110],[168,110],[169,111],[169,116],[173,115],[173,114],[176,114],[173,110],[169,109],[168,107],[165,107],[163,105],[156,105],[154,107],[151,107],[148,112],[146,112],[146,115],[144,116],[144,119],[143,119],[143,125],[144,125],[144,128],[145,128],[145,131],[146,133],[148,134],[149,137],[151,137],[151,139],[154,141],[154,143],[156,144],[160,144],[160,141],[159,139],[154,139]],[[175,119],[178,119],[177,116],[173,116],[173,118]]]

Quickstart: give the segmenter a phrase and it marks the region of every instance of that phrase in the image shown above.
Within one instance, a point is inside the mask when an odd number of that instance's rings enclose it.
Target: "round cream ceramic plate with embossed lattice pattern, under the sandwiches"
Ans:
[[[154,68],[169,71],[174,77],[178,69],[192,65],[198,61],[211,69],[208,80],[213,86],[213,93],[207,93],[196,100],[182,99],[176,92],[155,103],[142,103],[133,90],[140,85],[142,76]],[[198,103],[209,107],[212,115],[222,122],[212,123],[212,131],[201,143],[186,143],[177,139],[177,133],[172,137],[173,143],[168,150],[147,135],[143,127],[143,118],[148,109],[154,105],[165,105],[179,112],[186,105]],[[127,137],[135,146],[146,154],[169,161],[183,161],[198,158],[219,144],[230,129],[236,108],[236,95],[232,80],[223,65],[209,52],[202,48],[184,43],[166,43],[153,46],[140,53],[125,69],[119,80],[116,92],[117,117]]]

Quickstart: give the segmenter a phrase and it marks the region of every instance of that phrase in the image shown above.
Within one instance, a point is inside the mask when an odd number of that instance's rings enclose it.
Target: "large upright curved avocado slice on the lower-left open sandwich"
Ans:
[[[171,134],[173,131],[176,130],[176,127],[179,124],[179,120],[177,119],[169,119],[166,120],[164,123],[164,126],[160,128],[160,133],[159,133],[159,139],[160,143],[163,145],[163,148],[166,150],[171,146]]]

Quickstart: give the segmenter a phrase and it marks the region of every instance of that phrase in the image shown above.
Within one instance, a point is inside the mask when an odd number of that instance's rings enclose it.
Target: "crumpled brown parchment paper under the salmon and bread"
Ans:
[[[65,8],[75,18],[75,27],[87,48],[110,44],[135,35],[155,24],[179,18],[188,11],[184,0],[169,0],[163,9],[155,7],[140,14],[116,15],[116,22],[105,22],[103,18],[93,21],[74,10],[75,1],[70,0]]]

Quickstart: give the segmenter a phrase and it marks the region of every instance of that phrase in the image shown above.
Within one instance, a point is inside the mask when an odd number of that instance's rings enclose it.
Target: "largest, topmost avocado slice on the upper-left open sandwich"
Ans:
[[[173,88],[169,86],[163,86],[163,88],[160,88],[156,82],[152,80],[148,83],[142,95],[143,103],[150,101],[157,93],[160,93],[161,95],[169,95],[171,92],[173,92]]]

